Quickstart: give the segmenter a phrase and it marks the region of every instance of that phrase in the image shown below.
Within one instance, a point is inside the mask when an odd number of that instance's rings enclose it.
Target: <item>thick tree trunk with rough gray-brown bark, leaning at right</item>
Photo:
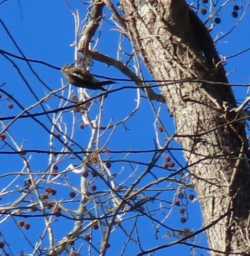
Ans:
[[[175,117],[175,138],[192,166],[211,255],[248,255],[248,146],[244,124],[228,123],[236,117],[236,101],[230,86],[220,84],[227,78],[211,38],[205,49],[195,31],[202,25],[184,0],[121,3],[132,41],[154,78],[182,80],[161,91]]]

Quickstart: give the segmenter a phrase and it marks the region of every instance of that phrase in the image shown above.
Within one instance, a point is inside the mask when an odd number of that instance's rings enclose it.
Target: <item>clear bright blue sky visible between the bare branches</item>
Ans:
[[[223,2],[223,1],[221,1]],[[247,1],[244,0],[243,7],[246,7]],[[80,13],[80,18],[84,19],[86,14],[86,8],[88,5],[80,4],[77,1],[68,1],[68,3],[72,6],[73,9],[78,9]],[[223,35],[222,33],[226,33],[229,29],[239,20],[231,18],[231,8],[235,4],[240,3],[240,1],[233,1],[228,4],[227,8],[223,9],[220,12],[220,18],[222,22],[220,25],[216,25],[214,30],[212,31],[212,36],[215,37],[219,33],[219,37]],[[239,11],[239,13],[241,13]],[[109,15],[109,14],[107,14]],[[14,38],[15,42],[19,45],[20,49],[24,53],[27,58],[42,60],[51,65],[56,67],[62,67],[65,63],[72,63],[74,61],[74,47],[71,47],[70,44],[74,42],[74,19],[71,14],[70,9],[65,4],[64,1],[54,0],[44,0],[44,1],[21,1],[20,5],[18,1],[10,0],[2,5],[0,5],[0,17],[4,22],[5,26],[10,31],[11,36]],[[205,21],[207,15],[202,17]],[[223,38],[217,43],[217,49],[219,53],[222,55],[229,57],[231,55],[235,55],[249,47],[249,24],[250,24],[250,13],[245,15],[245,18],[240,24],[232,31],[230,35]],[[98,46],[98,49],[105,54],[110,54],[113,58],[116,56],[116,47],[118,46],[118,35],[115,31],[108,30],[111,28],[110,21],[106,19],[104,21],[104,33],[109,33],[108,36],[103,37],[101,43]],[[13,42],[10,40],[6,31],[4,30],[3,26],[0,25],[0,35],[1,35],[1,45],[0,49],[6,52],[16,54],[21,56],[20,52],[16,49]],[[129,50],[129,46],[127,46]],[[226,70],[228,73],[232,74],[229,76],[230,83],[234,84],[249,84],[250,82],[250,74],[247,67],[249,66],[249,57],[250,53],[246,52],[237,56],[235,58],[230,58],[227,61]],[[125,56],[124,56],[125,58]],[[41,84],[38,79],[30,72],[28,69],[27,64],[23,60],[18,60],[13,58],[16,65],[24,74],[25,79],[27,79],[29,85],[37,94],[38,98],[41,99],[44,97],[49,91],[43,84]],[[63,78],[60,70],[52,69],[47,66],[32,63],[32,67],[36,70],[39,74],[40,78],[43,82],[51,89],[55,90],[61,87],[61,78]],[[28,107],[32,104],[36,103],[36,99],[31,96],[29,89],[25,85],[25,83],[20,78],[16,69],[13,68],[13,63],[7,60],[3,55],[0,56],[0,70],[1,70],[1,81],[0,84],[6,83],[2,89],[7,91],[9,94],[13,95],[13,97],[18,100],[24,107]],[[105,75],[110,77],[117,77],[117,78],[126,78],[120,72],[116,71],[113,68],[105,67],[100,63],[95,63],[93,67],[93,72],[98,75]],[[150,75],[145,73],[146,78],[150,78]],[[65,84],[65,80],[63,79]],[[132,85],[132,82],[120,82],[115,87],[124,86],[124,85]],[[115,88],[114,87],[114,88]],[[236,87],[234,88],[236,93],[236,97],[239,100],[243,100],[246,97],[246,89]],[[66,90],[65,90],[66,92]],[[98,92],[94,91],[91,92],[91,95],[96,95]],[[107,100],[105,100],[105,108],[104,108],[104,118],[102,120],[103,124],[108,124],[111,119],[112,122],[119,121],[125,118],[131,110],[136,106],[136,89],[126,89],[116,93],[111,93],[108,95]],[[74,88],[74,94],[77,94],[76,88]],[[21,109],[16,106],[14,103],[13,109],[9,109],[7,105],[9,103],[13,103],[13,101],[9,99],[5,99],[5,96],[2,95],[2,101],[0,102],[0,109],[1,109],[1,116],[15,116],[20,114]],[[45,104],[44,107],[46,110],[49,109],[56,109],[59,106],[60,100],[51,98]],[[154,103],[156,107],[159,107],[159,104]],[[98,113],[97,104],[94,105],[92,108],[92,113],[90,114],[91,117],[95,117],[96,113]],[[32,109],[31,113],[41,112],[42,109],[40,106],[35,107]],[[174,132],[174,124],[173,119],[166,115],[165,106],[162,106],[160,111],[160,115],[163,120],[165,127],[168,128],[169,133]],[[72,120],[75,118],[75,127],[72,129]],[[48,119],[43,116],[40,117],[39,120],[44,123],[48,128],[50,127],[50,123]],[[108,147],[111,150],[141,150],[141,149],[154,149],[154,139],[156,139],[156,134],[154,130],[154,121],[155,117],[152,113],[152,108],[148,101],[145,98],[141,99],[141,105],[138,111],[136,112],[135,116],[130,118],[126,122],[126,129],[124,126],[120,125],[117,127],[112,139],[110,140]],[[5,124],[8,124],[9,121],[5,121]],[[90,138],[90,129],[86,127],[84,130],[78,129],[78,125],[81,124],[80,115],[76,114],[72,116],[72,113],[68,112],[65,113],[63,116],[62,126],[67,127],[68,131],[75,132],[75,140],[80,143],[82,148],[86,148],[88,145],[88,141]],[[15,121],[9,129],[10,134],[7,135],[7,141],[9,141],[10,145],[14,147],[14,143],[11,141],[13,136],[16,143],[21,146],[22,143],[25,142],[24,148],[25,149],[40,149],[40,150],[48,150],[49,146],[49,136],[48,133],[41,129],[41,126],[34,122],[32,119],[21,119]],[[103,145],[109,136],[110,133],[107,133],[102,141],[101,144]],[[160,142],[164,143],[165,134],[159,134]],[[62,145],[60,142],[53,140],[54,145],[53,147],[56,150],[61,150]],[[2,143],[2,142],[1,142]],[[10,147],[3,146],[3,143],[0,144],[2,151],[11,151]],[[171,143],[172,147],[178,147],[177,143]],[[73,147],[75,150],[79,150],[76,146]],[[182,152],[180,150],[174,151],[174,156],[178,159],[181,165],[185,164],[184,159],[182,159]],[[142,161],[142,162],[149,162],[152,158],[153,154],[134,154],[129,155],[128,159],[130,161]],[[32,171],[34,172],[44,172],[48,167],[48,156],[46,154],[35,154],[29,153],[25,155],[26,158],[31,157],[30,159],[30,166]],[[112,174],[120,173],[123,168],[126,171],[123,171],[119,178],[116,180],[117,183],[120,183],[122,180],[126,179],[128,172],[132,171],[132,168],[135,168],[136,165],[132,166],[131,168],[127,163],[121,163],[121,159],[125,158],[126,154],[112,154],[112,155],[105,155],[105,159],[111,158],[112,167],[110,168]],[[18,155],[8,155],[8,154],[0,154],[0,161],[1,165],[1,172],[0,175],[12,172],[20,172],[23,168],[23,159]],[[116,163],[120,162],[120,163]],[[68,166],[70,163],[79,164],[79,159],[70,158],[70,159],[63,159],[60,163],[58,163],[59,170],[63,170]],[[164,163],[163,157],[159,161],[159,165]],[[180,166],[176,164],[173,170],[177,170]],[[135,177],[139,175],[145,166],[141,165],[138,167],[138,173],[136,173]],[[172,170],[172,171],[173,171]],[[162,170],[162,169],[155,169],[155,173],[158,178],[164,177],[164,175],[168,175],[171,173],[170,170]],[[13,176],[2,177],[0,180],[0,190],[6,186],[9,182],[14,180]],[[180,176],[178,176],[180,178]],[[131,178],[134,180],[135,178]],[[16,198],[20,196],[20,193],[14,193],[14,189],[19,188],[23,184],[23,177],[19,177],[18,179],[13,181],[12,186],[8,189],[10,191],[9,195],[4,195],[2,197],[3,205],[8,204],[10,201],[14,201]],[[148,176],[145,180],[145,184],[153,181],[154,178],[152,176]],[[62,182],[62,181],[60,181]],[[58,184],[45,184],[41,183],[42,187],[46,186],[54,186],[57,189],[57,194],[54,197],[56,200],[70,200],[69,186],[62,186],[58,181]],[[79,187],[79,176],[77,174],[70,173],[68,174],[68,183],[76,188]],[[95,184],[98,189],[105,190],[104,183],[100,180],[90,179],[90,184]],[[143,184],[140,184],[142,186]],[[195,200],[194,202],[190,200],[183,200],[184,205],[188,203],[188,212],[185,215],[188,217],[188,221],[184,224],[180,223],[179,214],[179,207],[174,206],[171,207],[173,198],[177,195],[176,188],[178,188],[177,184],[169,184],[163,183],[161,184],[161,188],[164,187],[165,189],[171,188],[170,191],[162,196],[162,200],[166,200],[169,203],[166,205],[166,209],[162,212],[155,212],[155,217],[161,218],[164,214],[170,214],[169,217],[164,222],[167,226],[170,226],[174,229],[183,229],[188,227],[189,229],[198,230],[202,227],[202,216],[199,210],[198,201]],[[157,186],[153,187],[154,189],[158,189]],[[41,191],[43,189],[41,188]],[[41,192],[42,193],[42,192]],[[186,195],[194,193],[191,189],[185,190]],[[72,207],[77,206],[77,202],[71,202]],[[152,209],[159,207],[160,202],[156,201],[151,204]],[[93,206],[93,205],[91,205]],[[171,210],[171,208],[173,208]],[[128,216],[133,216],[134,213],[129,214]],[[26,253],[32,251],[29,244],[27,243],[24,235],[27,236],[29,241],[35,243],[38,241],[38,236],[41,235],[41,232],[44,229],[44,223],[42,220],[38,220],[38,218],[29,218],[25,219],[29,221],[31,228],[30,230],[23,231],[16,227],[15,221],[19,221],[22,218],[16,217],[13,219],[9,219],[5,221],[0,226],[0,231],[4,235],[4,239],[6,239],[7,243],[10,245],[12,250],[12,255],[18,255],[20,250],[24,250]],[[134,219],[128,219],[125,222],[125,227],[130,230],[133,225]],[[60,239],[66,232],[70,231],[73,223],[70,220],[65,220],[63,218],[57,219],[54,223],[55,227],[55,237],[56,239]],[[36,227],[36,228],[35,228]],[[169,240],[166,239],[164,235],[166,235],[166,229],[160,229],[158,234],[159,238],[154,239],[154,231],[152,228],[152,222],[149,221],[147,218],[140,218],[138,222],[138,227],[142,234],[141,242],[143,244],[143,248],[152,248],[154,246],[160,245],[162,243],[174,241],[174,237],[170,238]],[[22,234],[23,232],[23,234]],[[96,234],[94,235],[94,243],[98,245],[99,239],[101,237],[101,232],[94,231]],[[121,237],[121,238],[120,238]],[[2,237],[3,238],[3,237]],[[111,234],[111,247],[109,248],[107,255],[119,255],[121,248],[124,244],[124,233],[118,229],[117,232]],[[201,239],[201,241],[199,241]],[[0,237],[1,240],[1,237]],[[203,235],[197,236],[196,241],[197,243],[206,246],[206,240]],[[80,244],[80,243],[79,243]],[[14,246],[13,246],[14,245]],[[44,244],[44,246],[47,246]],[[87,253],[87,249],[84,247],[83,251]],[[130,251],[127,251],[124,255],[130,256],[138,253],[138,247],[131,243],[128,247]],[[7,250],[8,251],[8,250]],[[199,251],[201,252],[201,251]],[[176,256],[180,255],[189,255],[190,248],[188,246],[173,246],[164,250],[158,251],[155,255],[161,256],[165,255],[166,253]],[[202,251],[203,254],[206,254],[206,251]],[[84,255],[84,254],[82,254]],[[86,254],[87,255],[87,254]],[[93,254],[95,255],[95,252]],[[198,255],[198,254],[197,254]]]

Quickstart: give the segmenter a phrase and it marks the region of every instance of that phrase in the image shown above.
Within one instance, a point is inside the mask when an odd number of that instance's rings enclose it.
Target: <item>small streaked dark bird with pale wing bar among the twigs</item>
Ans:
[[[98,81],[89,71],[81,68],[74,68],[70,64],[63,66],[61,71],[69,83],[81,88],[107,91],[103,88],[104,85],[116,84],[116,82],[112,80]]]

